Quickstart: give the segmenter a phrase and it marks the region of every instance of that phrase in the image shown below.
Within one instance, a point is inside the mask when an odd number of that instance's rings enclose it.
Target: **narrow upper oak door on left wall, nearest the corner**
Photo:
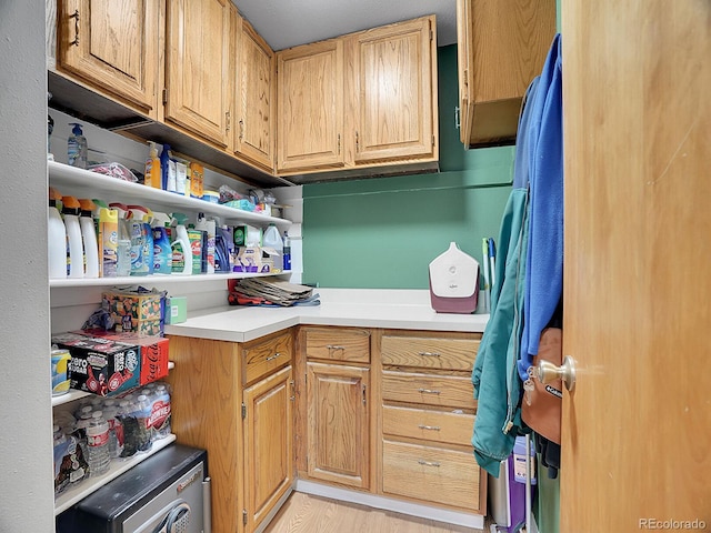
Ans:
[[[234,151],[263,167],[274,168],[274,52],[238,17]]]

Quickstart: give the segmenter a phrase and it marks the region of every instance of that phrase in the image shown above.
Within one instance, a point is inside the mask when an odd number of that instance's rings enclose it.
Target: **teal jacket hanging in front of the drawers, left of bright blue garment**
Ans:
[[[524,132],[533,107],[538,79],[527,91],[519,131]],[[509,197],[499,233],[495,283],[491,289],[490,319],[479,345],[472,383],[478,401],[472,445],[481,467],[499,476],[499,464],[511,454],[521,426],[519,400],[521,383],[517,374],[523,269],[528,250],[528,160],[523,157],[525,134],[517,143],[513,189]]]

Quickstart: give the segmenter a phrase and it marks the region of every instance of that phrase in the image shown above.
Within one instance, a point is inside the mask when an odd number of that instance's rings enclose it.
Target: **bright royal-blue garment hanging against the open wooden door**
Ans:
[[[561,38],[549,51],[529,124],[530,222],[519,375],[525,381],[541,332],[563,290],[563,121]]]

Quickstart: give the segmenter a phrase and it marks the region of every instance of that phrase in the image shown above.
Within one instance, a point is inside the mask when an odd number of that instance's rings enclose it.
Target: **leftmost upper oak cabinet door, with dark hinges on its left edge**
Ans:
[[[59,0],[60,70],[154,115],[158,4],[152,0]]]

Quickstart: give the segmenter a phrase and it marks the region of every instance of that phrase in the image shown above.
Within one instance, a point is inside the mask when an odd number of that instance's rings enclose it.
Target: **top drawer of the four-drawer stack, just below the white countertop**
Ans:
[[[384,335],[381,344],[382,364],[422,369],[470,371],[478,350],[478,339]]]

